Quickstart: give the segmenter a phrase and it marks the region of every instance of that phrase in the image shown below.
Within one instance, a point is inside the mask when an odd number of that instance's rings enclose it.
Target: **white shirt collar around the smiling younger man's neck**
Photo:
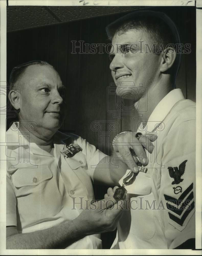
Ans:
[[[180,100],[183,100],[184,95],[181,89],[174,89],[170,91],[155,107],[151,113],[147,122],[147,132],[152,132],[156,128],[156,124],[161,125],[167,114],[171,111],[173,106]],[[142,129],[144,125],[141,123],[138,127],[138,131]]]

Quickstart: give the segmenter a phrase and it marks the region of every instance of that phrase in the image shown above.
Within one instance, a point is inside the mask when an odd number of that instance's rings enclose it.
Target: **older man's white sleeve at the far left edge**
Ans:
[[[16,197],[10,177],[6,177],[6,226],[17,226]]]

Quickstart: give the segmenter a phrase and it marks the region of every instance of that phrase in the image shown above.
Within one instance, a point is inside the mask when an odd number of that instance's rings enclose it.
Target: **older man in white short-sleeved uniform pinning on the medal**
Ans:
[[[97,233],[115,229],[120,217],[121,207],[89,205],[93,166],[105,155],[57,131],[65,89],[47,62],[12,70],[9,99],[19,122],[7,131],[7,249],[101,248]],[[105,199],[116,204],[112,195],[110,188]]]

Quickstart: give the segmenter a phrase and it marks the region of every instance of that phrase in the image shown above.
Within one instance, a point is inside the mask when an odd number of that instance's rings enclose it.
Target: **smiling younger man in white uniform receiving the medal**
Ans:
[[[139,175],[130,186],[130,209],[119,221],[112,248],[194,248],[196,112],[195,103],[174,89],[180,64],[177,29],[164,13],[145,10],[116,20],[106,31],[112,40],[109,57],[116,93],[134,99],[143,116],[139,140],[145,139],[144,133],[158,135],[155,150],[147,152],[142,186]],[[141,156],[131,153],[134,135],[125,132],[114,140],[118,156],[122,152],[117,145],[128,142],[124,147],[131,170]]]

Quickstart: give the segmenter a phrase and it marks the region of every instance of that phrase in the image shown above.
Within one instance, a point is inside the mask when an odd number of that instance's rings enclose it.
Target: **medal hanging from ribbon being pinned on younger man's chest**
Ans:
[[[140,166],[138,169],[139,169],[139,172],[147,173],[147,168],[145,167]],[[129,172],[129,174],[123,179],[123,185],[115,190],[113,195],[115,200],[124,200],[127,193],[127,190],[125,189],[126,184],[128,184],[129,182],[133,182],[139,172],[137,173],[133,173],[132,171]]]

